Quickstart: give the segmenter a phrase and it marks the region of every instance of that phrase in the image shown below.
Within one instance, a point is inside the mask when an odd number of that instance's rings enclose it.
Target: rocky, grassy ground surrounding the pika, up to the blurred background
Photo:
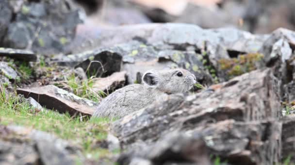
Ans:
[[[68,0],[2,0],[0,16],[1,165],[295,162],[295,31],[93,28]],[[122,119],[91,118],[146,70],[175,67],[204,88]]]

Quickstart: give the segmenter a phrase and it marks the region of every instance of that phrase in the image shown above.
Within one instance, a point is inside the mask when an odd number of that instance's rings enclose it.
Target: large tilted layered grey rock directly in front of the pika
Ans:
[[[272,88],[267,88],[268,85]],[[207,121],[206,118],[208,121],[212,118],[216,121],[228,118],[253,121],[281,116],[281,112],[278,111],[280,107],[278,79],[269,69],[252,71],[210,88],[215,92],[204,91],[187,97],[171,96],[171,99],[163,104],[153,105],[128,115],[115,122],[113,127],[115,135],[129,144],[135,138],[157,139],[164,130],[177,129],[176,127],[180,126],[177,121],[182,117],[184,118],[181,121],[185,121],[186,124],[181,124],[180,127],[185,128],[190,124],[195,126],[201,124],[199,119]],[[268,111],[265,111],[266,107]],[[140,135],[134,134],[133,131],[139,130],[145,132],[141,132]]]

